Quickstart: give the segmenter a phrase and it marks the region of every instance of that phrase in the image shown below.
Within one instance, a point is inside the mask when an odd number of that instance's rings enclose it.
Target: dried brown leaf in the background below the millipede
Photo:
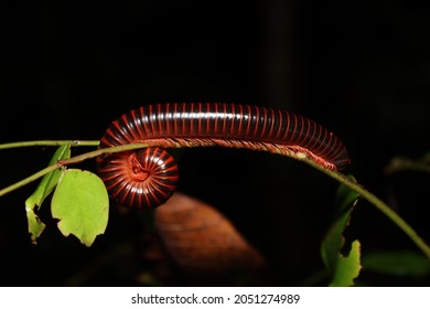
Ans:
[[[155,213],[166,251],[193,284],[264,285],[267,266],[235,226],[211,205],[175,193]]]

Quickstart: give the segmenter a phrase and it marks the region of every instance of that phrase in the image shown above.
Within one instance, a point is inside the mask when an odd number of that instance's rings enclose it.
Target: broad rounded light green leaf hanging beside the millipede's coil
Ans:
[[[58,228],[64,236],[73,234],[90,246],[97,235],[105,233],[108,222],[109,199],[104,182],[88,171],[64,171],[51,211],[60,220]]]

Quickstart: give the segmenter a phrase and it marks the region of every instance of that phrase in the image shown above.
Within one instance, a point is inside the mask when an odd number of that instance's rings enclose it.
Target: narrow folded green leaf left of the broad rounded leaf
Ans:
[[[55,164],[58,160],[71,158],[71,143],[61,146],[51,158],[49,166]],[[39,183],[36,190],[25,200],[25,212],[29,225],[31,242],[36,244],[36,239],[45,228],[45,224],[35,214],[42,202],[54,190],[61,175],[60,170],[45,174]]]

